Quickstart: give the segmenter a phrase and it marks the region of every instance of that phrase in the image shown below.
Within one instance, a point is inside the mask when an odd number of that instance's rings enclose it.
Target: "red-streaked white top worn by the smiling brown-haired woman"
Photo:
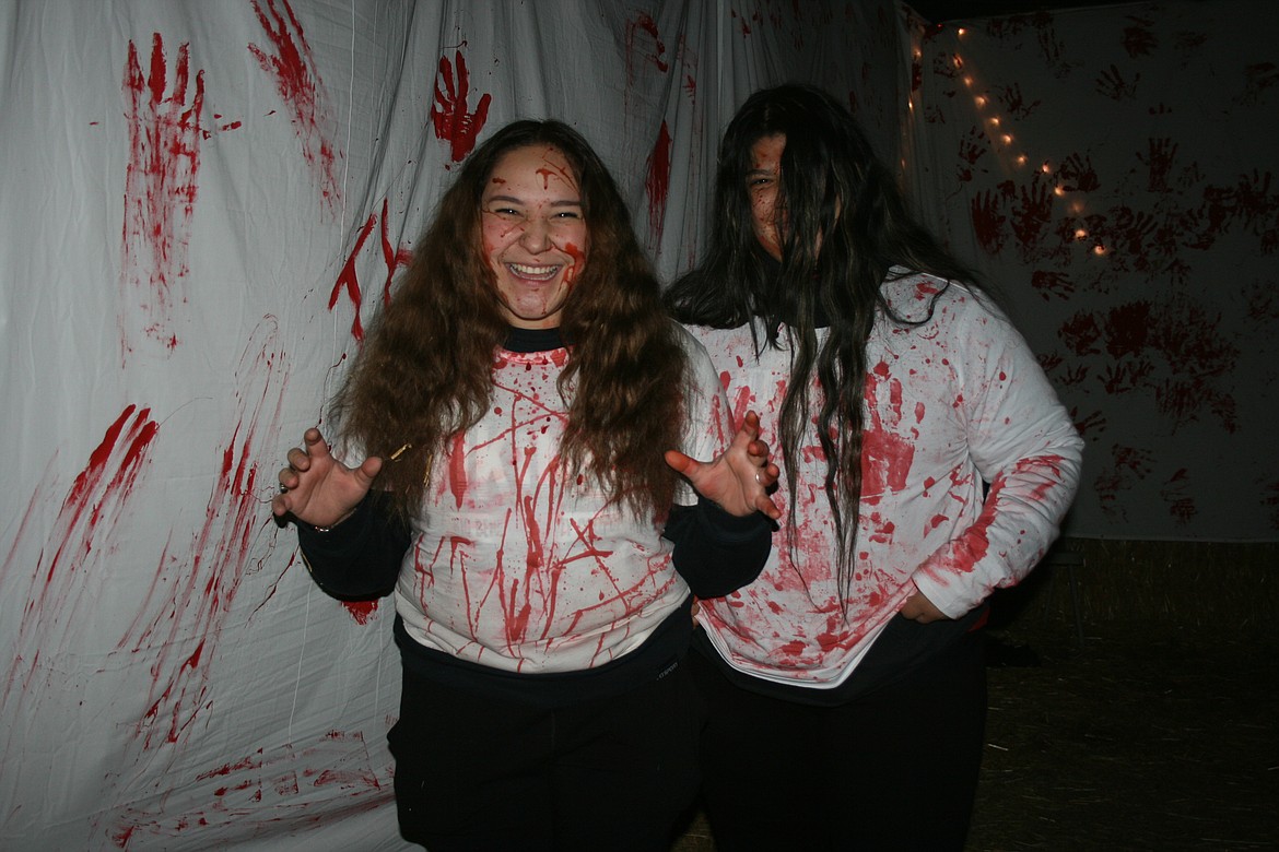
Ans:
[[[723,388],[692,339],[684,446],[732,439]],[[560,459],[568,350],[499,350],[487,416],[436,459],[395,589],[414,641],[509,672],[591,669],[637,649],[688,598],[663,520],[608,506]],[[660,450],[655,450],[660,451]],[[696,503],[691,489],[677,497]]]

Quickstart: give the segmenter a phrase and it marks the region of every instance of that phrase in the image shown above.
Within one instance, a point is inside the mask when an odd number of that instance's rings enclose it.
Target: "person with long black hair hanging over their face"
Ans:
[[[714,204],[666,301],[776,437],[785,510],[760,577],[700,604],[716,848],[961,849],[982,602],[1056,536],[1082,441],[825,92],[746,101]]]

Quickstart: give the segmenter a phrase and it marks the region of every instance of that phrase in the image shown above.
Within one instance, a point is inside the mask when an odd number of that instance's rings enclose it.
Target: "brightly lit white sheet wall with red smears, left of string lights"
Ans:
[[[311,582],[266,506],[284,450],[476,138],[574,124],[670,276],[753,88],[821,82],[897,144],[897,8],[4,0],[0,20],[0,848],[400,848],[389,607]]]

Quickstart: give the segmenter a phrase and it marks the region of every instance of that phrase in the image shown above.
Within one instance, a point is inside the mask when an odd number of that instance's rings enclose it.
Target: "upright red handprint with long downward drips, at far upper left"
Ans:
[[[124,96],[129,125],[129,165],[124,176],[124,250],[122,281],[125,313],[142,308],[142,331],[173,349],[178,341],[169,328],[178,280],[187,273],[187,243],[196,207],[200,143],[205,132],[200,112],[205,103],[205,73],[191,83],[189,47],[178,47],[173,87],[164,38],[151,40],[148,73],[143,74],[138,49],[130,41],[124,65]],[[166,96],[168,92],[168,96]],[[143,290],[141,304],[134,290]],[[122,328],[124,322],[122,319]],[[122,341],[130,350],[128,333]]]

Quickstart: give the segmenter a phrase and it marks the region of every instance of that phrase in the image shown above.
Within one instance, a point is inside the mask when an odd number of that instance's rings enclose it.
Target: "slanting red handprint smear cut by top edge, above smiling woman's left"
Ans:
[[[293,128],[302,143],[302,157],[316,175],[329,209],[336,209],[341,201],[336,161],[341,155],[329,141],[327,95],[316,70],[311,45],[289,0],[266,0],[266,11],[260,0],[251,0],[251,4],[262,31],[271,41],[274,54],[252,43],[248,50],[262,70],[275,78],[280,100],[293,114]]]

